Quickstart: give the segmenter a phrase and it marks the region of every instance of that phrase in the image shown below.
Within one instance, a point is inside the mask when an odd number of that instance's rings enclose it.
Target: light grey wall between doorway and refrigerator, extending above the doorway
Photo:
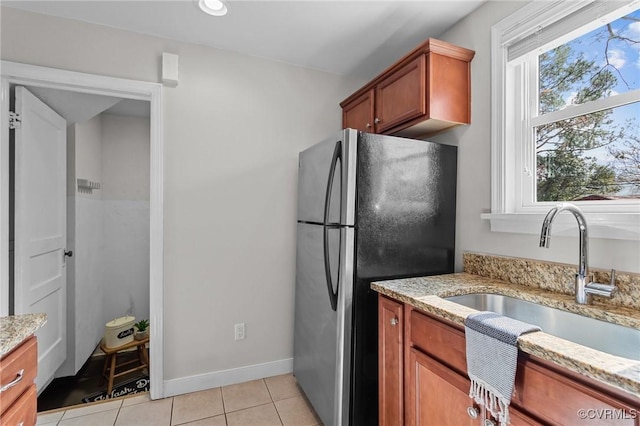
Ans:
[[[163,93],[165,379],[290,362],[297,153],[340,129],[363,82],[6,7],[0,31],[4,60],[129,79],[159,81],[162,52],[179,55]]]

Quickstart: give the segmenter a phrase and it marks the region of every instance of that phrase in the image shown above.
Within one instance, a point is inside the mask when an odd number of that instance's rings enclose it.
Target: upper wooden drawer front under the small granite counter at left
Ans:
[[[0,360],[0,387],[15,381],[15,385],[6,389],[0,396],[0,413],[33,385],[38,368],[37,350],[36,338],[31,337]]]

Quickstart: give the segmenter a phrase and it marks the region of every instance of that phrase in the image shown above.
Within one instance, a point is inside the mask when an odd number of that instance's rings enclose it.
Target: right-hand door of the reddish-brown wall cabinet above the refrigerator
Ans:
[[[376,133],[427,114],[425,63],[420,55],[376,86]]]

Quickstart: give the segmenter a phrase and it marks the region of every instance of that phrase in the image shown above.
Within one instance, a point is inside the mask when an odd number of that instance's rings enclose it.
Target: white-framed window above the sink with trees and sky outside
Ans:
[[[492,83],[492,230],[570,201],[640,237],[640,1],[527,4],[492,28]]]

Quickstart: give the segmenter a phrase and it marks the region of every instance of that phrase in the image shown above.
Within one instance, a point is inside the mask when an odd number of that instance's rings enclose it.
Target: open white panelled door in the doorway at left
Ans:
[[[67,356],[67,123],[24,87],[15,88],[15,314],[45,312],[38,337],[38,392]]]

